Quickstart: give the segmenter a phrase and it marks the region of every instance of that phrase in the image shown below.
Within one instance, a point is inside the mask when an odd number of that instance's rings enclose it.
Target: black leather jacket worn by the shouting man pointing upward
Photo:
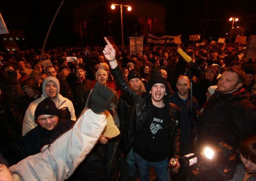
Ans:
[[[122,73],[119,67],[111,69],[111,73],[114,76],[115,83],[117,87],[122,91],[123,95],[126,97],[126,100],[129,100],[131,110],[128,116],[125,119],[124,129],[122,139],[124,141],[123,146],[125,149],[129,149],[134,141],[136,135],[140,132],[142,127],[145,125],[146,120],[149,116],[149,108],[152,106],[150,94],[142,93],[137,95],[132,91],[126,81],[124,80]],[[168,145],[168,157],[178,158],[180,156],[180,109],[177,105],[169,104],[169,120],[171,121],[171,127],[169,132],[169,145]]]

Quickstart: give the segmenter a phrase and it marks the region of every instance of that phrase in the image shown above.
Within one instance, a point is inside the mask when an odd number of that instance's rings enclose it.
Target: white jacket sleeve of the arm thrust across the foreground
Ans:
[[[50,147],[44,146],[41,153],[28,156],[9,169],[23,180],[65,180],[92,150],[105,126],[106,116],[89,109]]]

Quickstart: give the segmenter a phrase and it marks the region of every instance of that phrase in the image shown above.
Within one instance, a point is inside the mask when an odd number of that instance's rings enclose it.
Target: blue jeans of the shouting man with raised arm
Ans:
[[[158,181],[168,180],[168,165],[169,165],[168,158],[165,158],[160,162],[148,162],[147,160],[139,156],[137,153],[135,153],[135,162],[138,166],[140,181],[150,180],[150,177],[149,177],[150,167],[154,168]]]

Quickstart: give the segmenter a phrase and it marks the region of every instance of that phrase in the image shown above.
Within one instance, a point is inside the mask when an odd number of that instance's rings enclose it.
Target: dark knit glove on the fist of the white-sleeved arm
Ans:
[[[96,82],[90,96],[90,108],[95,113],[100,113],[109,108],[113,98],[113,92],[99,82]]]

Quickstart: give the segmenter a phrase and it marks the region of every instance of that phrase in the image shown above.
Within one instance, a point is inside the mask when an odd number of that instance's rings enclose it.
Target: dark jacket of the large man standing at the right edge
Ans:
[[[217,145],[223,141],[237,149],[239,141],[256,134],[256,111],[253,104],[243,106],[237,121],[233,117],[233,111],[237,111],[241,101],[246,98],[249,98],[249,93],[244,88],[227,94],[215,91],[204,108],[198,143],[202,146]]]

